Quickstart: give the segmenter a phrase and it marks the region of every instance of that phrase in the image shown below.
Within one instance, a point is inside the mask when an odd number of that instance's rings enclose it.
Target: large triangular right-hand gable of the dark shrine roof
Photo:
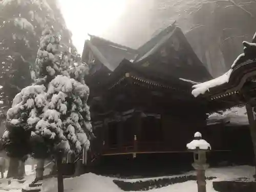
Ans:
[[[149,62],[155,70],[193,81],[202,82],[212,78],[179,27],[170,26],[146,44],[143,52],[138,51],[134,63],[145,65]],[[166,52],[164,58],[162,50]]]

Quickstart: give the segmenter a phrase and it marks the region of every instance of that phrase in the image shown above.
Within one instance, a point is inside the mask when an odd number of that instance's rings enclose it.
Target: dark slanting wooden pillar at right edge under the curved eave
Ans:
[[[254,166],[255,166],[255,175],[256,176],[256,120],[253,115],[253,108],[250,104],[246,104],[246,112],[248,116],[248,121],[250,125],[250,135],[251,141],[253,144],[253,151],[254,151]]]

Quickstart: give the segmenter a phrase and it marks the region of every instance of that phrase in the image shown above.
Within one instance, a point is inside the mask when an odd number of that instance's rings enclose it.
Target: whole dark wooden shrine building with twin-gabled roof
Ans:
[[[194,84],[212,77],[179,27],[169,26],[137,50],[90,36],[82,60],[90,67],[92,154],[185,153],[197,131],[212,153],[230,150],[228,138],[206,121],[223,103],[191,94]]]

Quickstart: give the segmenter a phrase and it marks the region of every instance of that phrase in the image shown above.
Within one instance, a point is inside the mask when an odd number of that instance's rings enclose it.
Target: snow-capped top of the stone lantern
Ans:
[[[193,141],[191,141],[190,143],[187,143],[187,149],[188,150],[196,150],[197,148],[199,148],[200,150],[210,150],[210,144],[205,141],[204,139],[202,139],[202,134],[197,132],[194,135],[195,139]],[[199,139],[196,139],[196,138]]]

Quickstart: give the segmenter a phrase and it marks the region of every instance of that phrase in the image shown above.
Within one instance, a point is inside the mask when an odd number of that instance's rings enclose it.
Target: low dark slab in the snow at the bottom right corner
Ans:
[[[254,192],[256,191],[255,181],[213,181],[212,186],[219,192]]]

